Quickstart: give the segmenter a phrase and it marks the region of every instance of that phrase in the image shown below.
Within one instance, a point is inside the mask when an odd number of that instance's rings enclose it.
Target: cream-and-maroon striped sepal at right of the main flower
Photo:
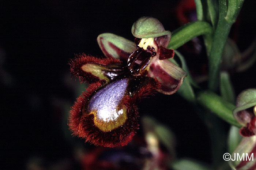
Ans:
[[[170,95],[180,88],[187,72],[169,60],[158,60],[156,57],[149,64],[147,76],[161,83],[159,92]]]

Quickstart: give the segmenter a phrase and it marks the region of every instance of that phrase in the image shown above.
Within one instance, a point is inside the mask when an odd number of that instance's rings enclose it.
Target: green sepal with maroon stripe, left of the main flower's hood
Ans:
[[[111,33],[100,34],[97,42],[106,57],[126,61],[136,49],[136,44],[128,39]]]

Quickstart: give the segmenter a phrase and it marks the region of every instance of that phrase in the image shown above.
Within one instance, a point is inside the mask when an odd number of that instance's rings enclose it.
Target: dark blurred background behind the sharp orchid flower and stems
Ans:
[[[242,52],[248,52],[255,41],[255,6],[256,1],[245,0],[231,27],[225,48],[238,57],[246,56]],[[87,84],[71,79],[69,59],[76,53],[102,56],[96,41],[101,33],[133,40],[131,26],[141,16],[153,16],[166,30],[173,31],[196,20],[196,10],[190,0],[0,2],[3,169],[208,168],[197,164],[212,162],[207,122],[204,124],[194,107],[178,94],[156,94],[139,103],[140,129],[127,147],[95,147],[70,134],[68,111]],[[192,39],[178,51],[185,57],[196,83],[207,87],[203,37]],[[256,67],[238,68],[226,62],[230,61],[230,53],[225,54],[227,60],[223,60],[222,67],[229,72],[237,95],[255,87]],[[218,121],[227,135],[229,125]],[[226,150],[232,150],[232,146]],[[174,158],[185,159],[169,166]]]

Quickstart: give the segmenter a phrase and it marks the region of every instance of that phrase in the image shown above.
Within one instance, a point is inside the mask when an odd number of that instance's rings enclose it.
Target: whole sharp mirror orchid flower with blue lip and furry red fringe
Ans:
[[[74,135],[95,145],[127,145],[138,124],[137,103],[155,91],[173,94],[187,73],[171,63],[166,49],[171,33],[155,18],[142,17],[132,26],[135,43],[105,33],[97,41],[105,57],[85,54],[71,60],[71,72],[91,83],[70,111]]]

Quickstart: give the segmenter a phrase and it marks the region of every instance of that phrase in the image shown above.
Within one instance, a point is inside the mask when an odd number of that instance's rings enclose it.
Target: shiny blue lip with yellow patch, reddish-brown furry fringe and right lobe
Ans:
[[[69,128],[95,145],[125,146],[139,129],[137,103],[158,88],[157,80],[140,76],[93,83],[72,106]]]

